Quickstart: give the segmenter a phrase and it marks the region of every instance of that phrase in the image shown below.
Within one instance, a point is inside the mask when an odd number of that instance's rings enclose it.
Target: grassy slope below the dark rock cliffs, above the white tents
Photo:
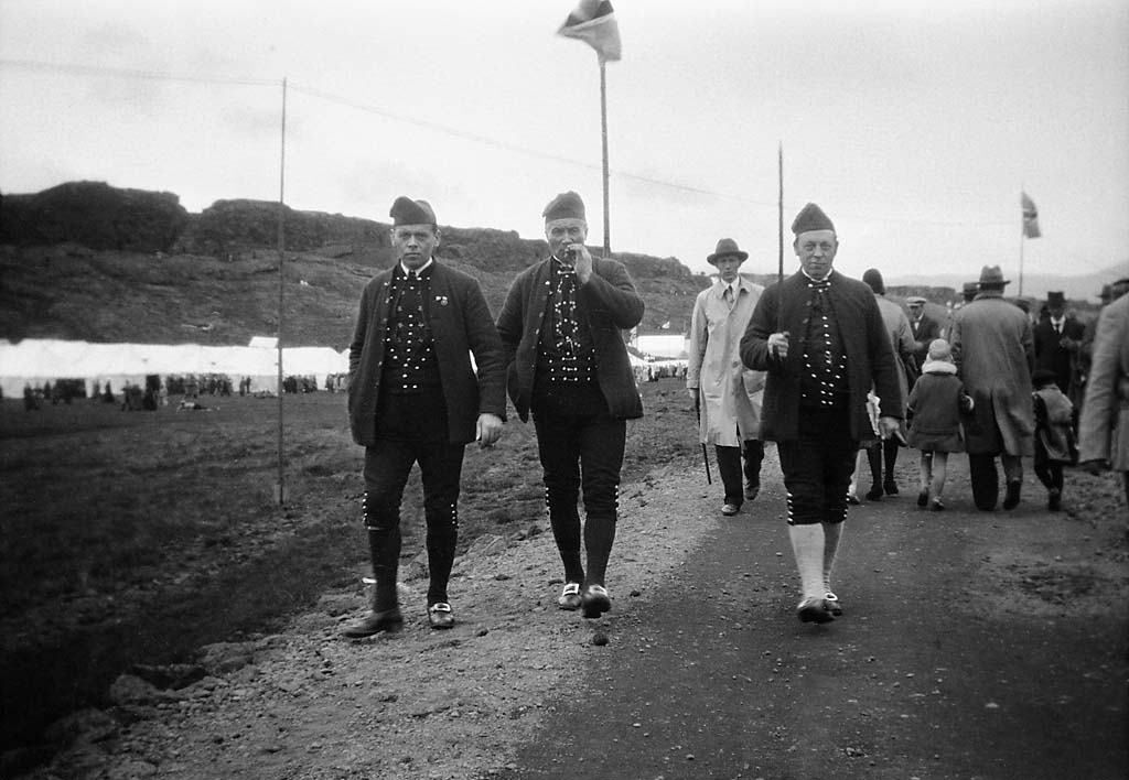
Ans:
[[[507,256],[480,257],[481,249],[462,243],[443,247],[440,255],[479,279],[497,313],[515,263]],[[523,261],[534,258],[530,252]],[[391,262],[386,249],[340,257],[287,253],[283,342],[343,349],[352,335],[361,288]],[[681,265],[656,269],[644,257],[631,257],[628,264],[647,301],[641,330],[657,330],[667,321],[673,330],[681,328],[707,279]],[[10,341],[245,344],[254,335],[275,333],[278,303],[278,253],[270,249],[244,251],[228,261],[73,244],[0,246],[0,338]]]

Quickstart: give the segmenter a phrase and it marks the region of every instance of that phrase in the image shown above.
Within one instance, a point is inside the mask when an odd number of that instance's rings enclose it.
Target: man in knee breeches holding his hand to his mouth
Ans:
[[[537,432],[549,522],[564,567],[558,605],[598,617],[612,606],[605,577],[625,421],[642,417],[622,331],[639,324],[644,303],[621,263],[588,252],[578,194],[561,193],[542,216],[549,257],[514,280],[498,333],[509,396],[523,422],[532,412]]]

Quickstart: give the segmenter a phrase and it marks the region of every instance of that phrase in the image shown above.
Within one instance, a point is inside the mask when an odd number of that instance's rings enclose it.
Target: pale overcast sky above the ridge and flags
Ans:
[[[727,236],[774,271],[782,144],[786,230],[820,203],[851,275],[1129,260],[1124,0],[613,5],[613,251],[710,270]],[[286,78],[289,205],[387,221],[404,194],[535,238],[576,190],[599,245],[599,70],[555,35],[574,7],[0,0],[0,190],[277,200]],[[1042,238],[1021,240],[1021,190]]]

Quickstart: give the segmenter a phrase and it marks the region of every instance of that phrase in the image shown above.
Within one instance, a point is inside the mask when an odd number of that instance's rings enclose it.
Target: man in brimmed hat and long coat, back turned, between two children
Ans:
[[[965,421],[964,445],[969,453],[972,500],[991,511],[999,499],[996,458],[1004,466],[1007,493],[1004,508],[1019,503],[1024,456],[1034,455],[1035,421],[1031,405],[1031,371],[1034,344],[1031,321],[1004,299],[1004,279],[998,265],[980,272],[980,292],[953,315],[949,343],[953,361],[974,402]]]

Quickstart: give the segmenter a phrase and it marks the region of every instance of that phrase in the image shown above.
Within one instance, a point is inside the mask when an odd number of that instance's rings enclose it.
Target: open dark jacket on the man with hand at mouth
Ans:
[[[498,316],[498,333],[509,366],[509,397],[523,422],[530,417],[552,262],[549,257],[518,274]],[[596,379],[609,413],[616,419],[642,417],[642,398],[621,333],[638,325],[642,312],[642,298],[623,264],[593,257],[592,279],[577,288],[576,314],[588,323],[596,350]]]

